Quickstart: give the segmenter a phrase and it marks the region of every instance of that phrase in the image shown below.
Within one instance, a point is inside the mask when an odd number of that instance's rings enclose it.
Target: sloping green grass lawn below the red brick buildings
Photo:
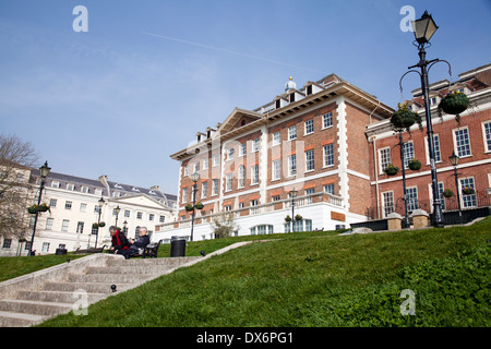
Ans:
[[[491,325],[491,217],[463,228],[273,238],[43,326]],[[238,240],[189,243],[188,255]],[[400,314],[405,289],[414,316]]]

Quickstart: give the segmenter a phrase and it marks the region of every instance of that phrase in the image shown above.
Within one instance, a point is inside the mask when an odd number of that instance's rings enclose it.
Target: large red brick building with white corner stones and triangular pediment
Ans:
[[[203,205],[195,213],[194,240],[213,238],[211,221],[224,212],[235,218],[236,234],[364,220],[372,203],[366,127],[392,112],[335,74],[299,89],[290,79],[272,101],[233,109],[171,155],[180,161],[179,208],[176,221],[157,226],[156,234],[189,237],[193,219],[185,205],[193,202]],[[302,219],[286,220],[294,215]]]

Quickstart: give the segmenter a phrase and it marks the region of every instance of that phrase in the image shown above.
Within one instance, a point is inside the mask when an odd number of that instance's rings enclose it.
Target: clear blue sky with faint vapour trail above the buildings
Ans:
[[[72,10],[88,11],[76,33]],[[428,59],[454,79],[491,62],[489,0],[0,0],[0,132],[53,171],[177,193],[169,155],[235,107],[336,73],[395,107],[417,63],[403,5],[432,13]],[[447,79],[436,64],[430,81]],[[419,77],[404,80],[404,98]]]

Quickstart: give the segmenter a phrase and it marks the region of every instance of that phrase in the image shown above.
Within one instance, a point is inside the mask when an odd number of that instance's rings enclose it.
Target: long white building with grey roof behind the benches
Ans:
[[[39,170],[31,171],[31,183],[39,186]],[[99,201],[104,200],[99,218]],[[36,201],[37,203],[37,201]],[[110,245],[109,227],[117,225],[127,237],[134,238],[141,226],[153,234],[157,224],[172,220],[176,196],[165,194],[159,186],[149,189],[109,181],[107,176],[98,180],[50,172],[46,179],[41,203],[50,209],[40,213],[34,238],[36,254],[56,253],[57,249],[76,249]],[[34,202],[28,205],[34,204]],[[119,215],[116,208],[119,207]],[[27,214],[27,213],[26,213]],[[27,254],[34,227],[34,215],[29,216],[25,242],[4,238],[0,255]],[[93,228],[100,221],[105,227]],[[97,233],[98,232],[98,233]]]

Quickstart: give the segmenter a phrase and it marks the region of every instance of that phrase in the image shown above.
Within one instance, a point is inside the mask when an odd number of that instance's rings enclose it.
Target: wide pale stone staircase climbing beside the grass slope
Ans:
[[[92,303],[200,260],[204,258],[124,260],[99,254],[1,282],[0,327],[32,326],[72,310],[82,312]]]

